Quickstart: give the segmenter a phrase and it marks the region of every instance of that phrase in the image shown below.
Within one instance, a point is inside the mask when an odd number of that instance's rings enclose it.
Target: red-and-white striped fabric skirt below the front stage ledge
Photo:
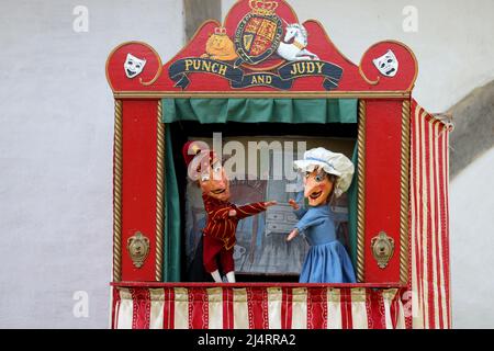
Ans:
[[[405,328],[398,288],[114,287],[113,328]]]

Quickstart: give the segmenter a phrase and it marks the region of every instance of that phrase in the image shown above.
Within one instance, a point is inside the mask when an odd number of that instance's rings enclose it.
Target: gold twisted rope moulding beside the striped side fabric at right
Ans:
[[[409,100],[402,105],[402,149],[401,149],[401,204],[400,204],[400,281],[408,282],[408,214],[409,214]]]

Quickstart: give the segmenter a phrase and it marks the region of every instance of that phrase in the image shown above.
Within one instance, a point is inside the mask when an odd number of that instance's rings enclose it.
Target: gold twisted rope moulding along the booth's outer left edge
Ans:
[[[122,100],[115,100],[113,136],[113,281],[122,280]]]

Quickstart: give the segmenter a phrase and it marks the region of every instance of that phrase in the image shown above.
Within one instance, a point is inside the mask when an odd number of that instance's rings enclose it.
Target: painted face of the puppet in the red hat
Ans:
[[[201,171],[199,185],[202,192],[211,197],[221,201],[229,200],[229,181],[226,178],[222,162],[217,159],[212,160],[207,170]]]

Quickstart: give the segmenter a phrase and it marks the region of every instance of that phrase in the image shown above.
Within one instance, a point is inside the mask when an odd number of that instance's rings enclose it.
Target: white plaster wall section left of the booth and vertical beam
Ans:
[[[89,9],[89,32],[72,9]],[[182,46],[176,0],[1,1],[0,328],[106,328],[113,98],[104,64],[126,41],[166,61]],[[75,318],[72,295],[89,296]]]

